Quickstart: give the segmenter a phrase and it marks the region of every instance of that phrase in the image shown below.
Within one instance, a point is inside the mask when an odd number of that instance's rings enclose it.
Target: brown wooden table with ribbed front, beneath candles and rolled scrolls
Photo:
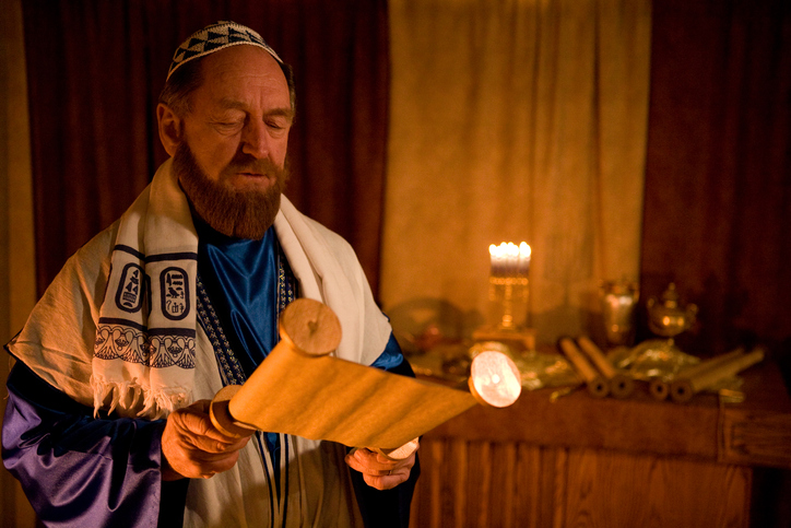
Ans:
[[[412,526],[747,527],[754,467],[791,468],[791,399],[774,363],[741,376],[742,403],[638,384],[473,408],[424,436]]]

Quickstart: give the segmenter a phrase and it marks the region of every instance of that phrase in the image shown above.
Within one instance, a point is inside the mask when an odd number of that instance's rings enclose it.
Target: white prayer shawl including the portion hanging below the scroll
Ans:
[[[274,228],[302,295],[326,303],[341,320],[335,355],[371,364],[391,328],[351,246],[285,197]],[[69,259],[9,351],[85,406],[154,416],[212,398],[222,380],[194,317],[196,253],[188,203],[168,161],[118,222]],[[150,301],[135,296],[134,286]],[[288,438],[287,497],[274,498],[278,468],[250,442],[232,470],[191,481],[186,526],[356,524],[343,446]]]

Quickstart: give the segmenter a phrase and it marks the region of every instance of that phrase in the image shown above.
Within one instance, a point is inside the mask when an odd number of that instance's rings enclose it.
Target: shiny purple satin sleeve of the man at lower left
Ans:
[[[164,421],[94,419],[22,363],[8,388],[3,464],[42,521],[157,526]]]

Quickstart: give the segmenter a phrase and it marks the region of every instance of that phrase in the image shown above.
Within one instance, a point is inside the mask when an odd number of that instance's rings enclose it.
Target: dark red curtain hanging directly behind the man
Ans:
[[[286,195],[357,250],[376,292],[388,105],[387,5],[370,0],[25,0],[39,294],[166,159],[154,109],[176,46],[217,20],[295,70]]]

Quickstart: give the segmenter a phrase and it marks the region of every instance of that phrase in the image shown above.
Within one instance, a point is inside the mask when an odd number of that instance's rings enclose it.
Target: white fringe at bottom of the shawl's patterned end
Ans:
[[[93,387],[93,415],[98,418],[98,411],[105,407],[107,398],[110,398],[108,414],[118,410],[125,416],[137,415],[149,420],[158,420],[167,416],[176,409],[187,404],[189,395],[187,391],[151,390],[137,382],[105,382],[91,376]],[[141,407],[142,409],[135,410]]]

